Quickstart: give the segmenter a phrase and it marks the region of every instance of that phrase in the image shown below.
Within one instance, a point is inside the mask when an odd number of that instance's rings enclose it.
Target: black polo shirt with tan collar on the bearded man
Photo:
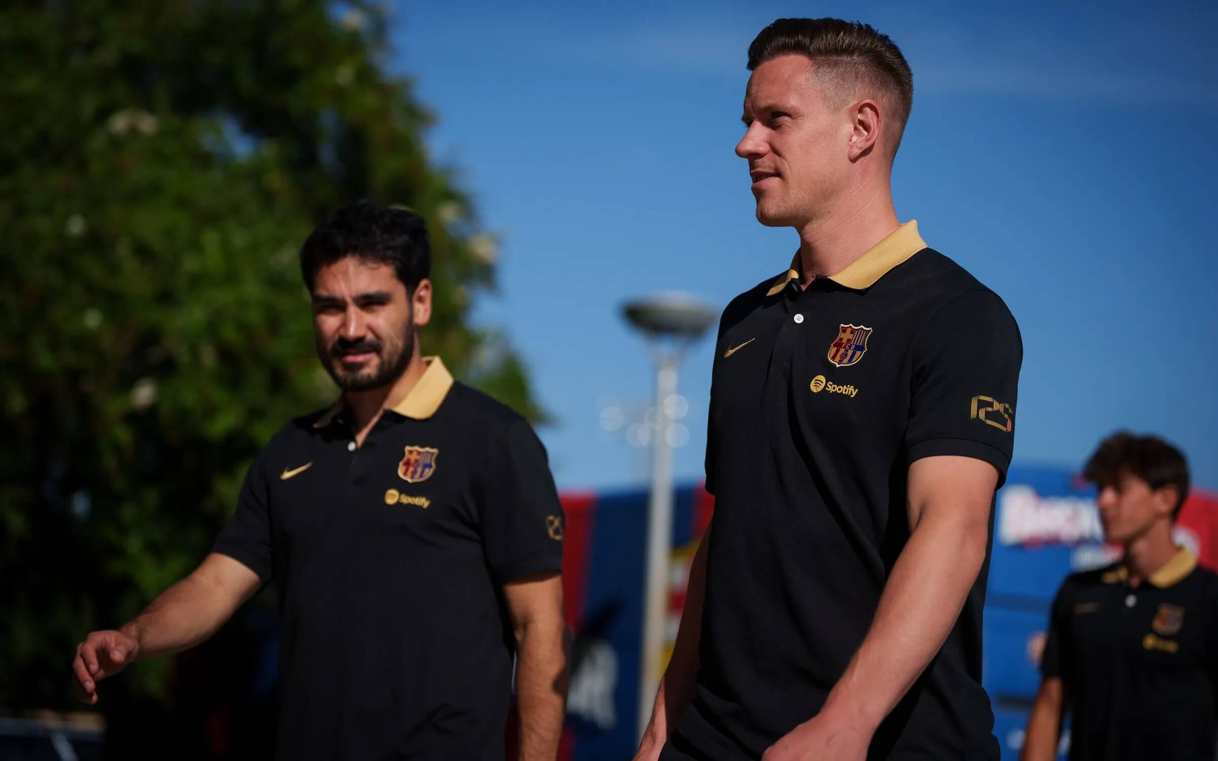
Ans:
[[[502,761],[502,586],[561,538],[532,429],[440,359],[361,447],[337,405],[287,424],[216,543],[279,587],[276,757]]]

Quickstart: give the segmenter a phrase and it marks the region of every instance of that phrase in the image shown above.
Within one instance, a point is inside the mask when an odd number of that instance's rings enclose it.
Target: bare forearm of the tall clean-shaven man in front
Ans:
[[[987,527],[955,517],[917,526],[898,558],[871,631],[822,712],[873,731],[943,647],[985,556]]]

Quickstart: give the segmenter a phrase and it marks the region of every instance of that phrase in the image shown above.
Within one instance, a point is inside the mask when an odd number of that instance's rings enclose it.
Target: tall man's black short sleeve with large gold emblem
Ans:
[[[1019,329],[993,292],[970,291],[935,313],[912,346],[909,461],[985,460],[1001,486],[1015,447],[1022,362]]]

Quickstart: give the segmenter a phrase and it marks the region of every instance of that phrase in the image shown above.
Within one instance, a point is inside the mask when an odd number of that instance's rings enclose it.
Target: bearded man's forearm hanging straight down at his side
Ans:
[[[566,628],[561,620],[532,623],[520,632],[516,647],[520,761],[554,761],[570,681]]]

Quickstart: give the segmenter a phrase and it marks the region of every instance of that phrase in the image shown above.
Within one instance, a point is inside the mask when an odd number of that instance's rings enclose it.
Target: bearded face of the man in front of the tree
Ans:
[[[414,330],[430,315],[431,284],[413,298],[393,268],[346,257],[313,281],[313,336],[322,364],[343,391],[393,384],[410,364]],[[417,313],[420,302],[425,309]]]

